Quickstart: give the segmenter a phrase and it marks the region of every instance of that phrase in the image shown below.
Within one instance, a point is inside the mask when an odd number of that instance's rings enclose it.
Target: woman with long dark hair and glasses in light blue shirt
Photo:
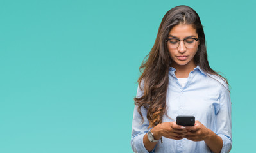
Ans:
[[[167,11],[155,45],[143,62],[132,124],[133,152],[230,152],[228,82],[209,66],[196,11]],[[176,124],[194,115],[194,126]]]

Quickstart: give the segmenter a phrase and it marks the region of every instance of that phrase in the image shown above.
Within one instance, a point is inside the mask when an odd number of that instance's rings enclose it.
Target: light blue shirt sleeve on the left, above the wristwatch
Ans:
[[[136,97],[140,97],[142,95],[143,95],[143,92],[141,91],[141,89],[138,85]],[[144,143],[143,143],[143,136],[146,133],[148,133],[148,126],[149,126],[149,122],[146,117],[147,110],[146,110],[146,108],[144,108],[144,106],[141,107],[141,113],[144,118],[144,122],[142,122],[141,115],[137,111],[137,105],[135,105],[134,111],[133,111],[133,121],[132,121],[131,145],[132,145],[133,152],[136,152],[136,153],[148,152],[148,150],[146,150],[146,148],[144,147]]]

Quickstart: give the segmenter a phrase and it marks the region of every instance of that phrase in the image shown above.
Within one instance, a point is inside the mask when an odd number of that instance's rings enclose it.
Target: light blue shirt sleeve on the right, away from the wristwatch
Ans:
[[[216,114],[216,135],[223,140],[221,153],[226,153],[230,152],[232,148],[231,101],[228,87],[227,89],[223,87],[219,96],[219,105],[220,108]]]

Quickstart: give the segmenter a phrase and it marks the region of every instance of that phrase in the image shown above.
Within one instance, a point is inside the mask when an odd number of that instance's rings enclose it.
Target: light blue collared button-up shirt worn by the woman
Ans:
[[[162,122],[176,121],[178,115],[194,115],[196,120],[205,125],[223,140],[221,152],[229,152],[232,147],[231,133],[231,102],[228,85],[216,75],[206,74],[199,66],[189,73],[187,82],[182,87],[175,76],[175,68],[169,69],[169,86],[167,89],[166,104],[167,117]],[[143,89],[143,88],[142,88]],[[138,87],[137,97],[143,91]],[[141,124],[141,115],[135,105],[132,122],[132,150],[133,152],[148,152],[143,144],[143,136],[148,132],[149,122],[147,110],[142,106],[141,112],[144,122]],[[183,138],[173,140],[163,137],[152,152],[211,152],[204,141],[193,142]]]

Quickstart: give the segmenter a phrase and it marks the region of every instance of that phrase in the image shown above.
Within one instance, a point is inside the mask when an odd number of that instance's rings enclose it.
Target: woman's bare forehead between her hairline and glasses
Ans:
[[[177,38],[183,39],[187,36],[196,36],[196,29],[194,29],[193,25],[191,24],[178,24],[175,25],[171,31],[169,31],[169,35],[175,36]]]

